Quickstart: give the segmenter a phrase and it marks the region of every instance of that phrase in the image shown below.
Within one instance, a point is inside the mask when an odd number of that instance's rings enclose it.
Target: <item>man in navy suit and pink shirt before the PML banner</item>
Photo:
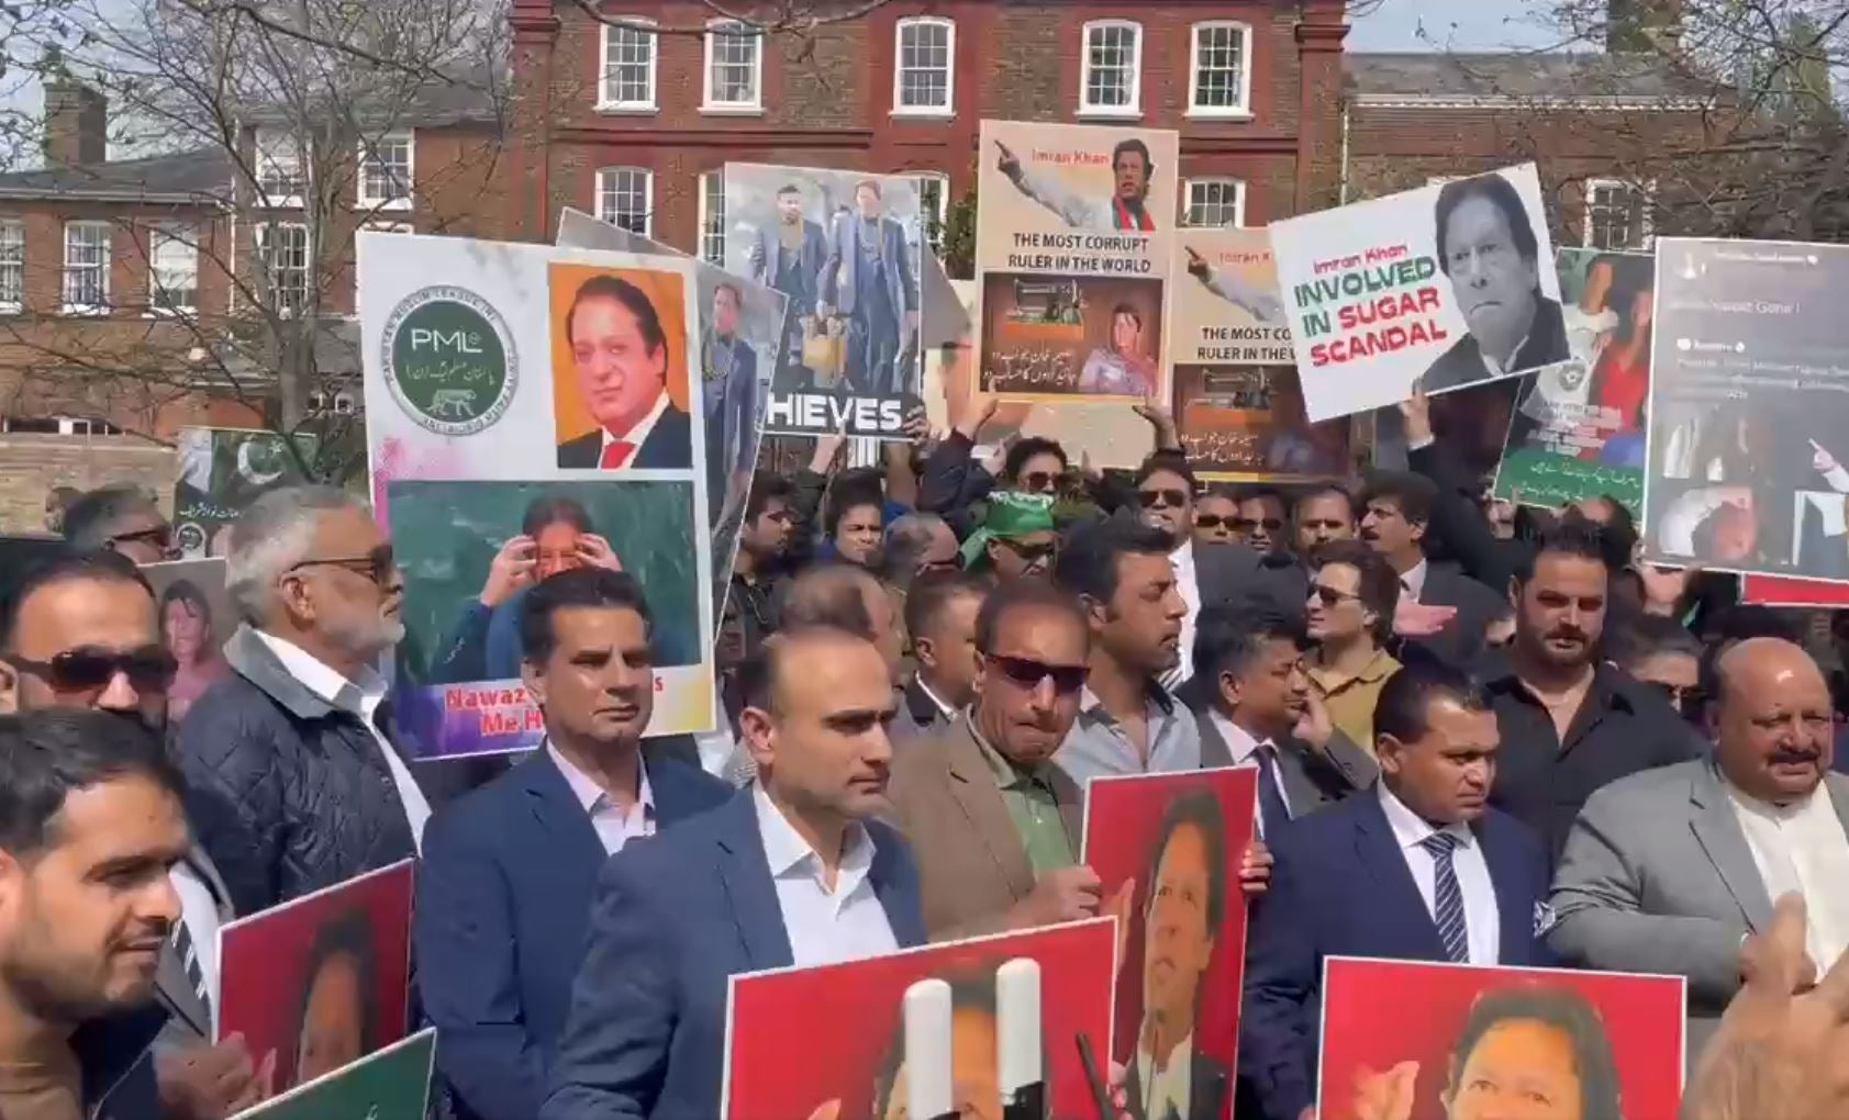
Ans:
[[[684,761],[645,758],[655,669],[634,577],[545,578],[520,628],[545,745],[438,813],[418,869],[418,992],[459,1120],[538,1114],[605,859],[730,797]]]

